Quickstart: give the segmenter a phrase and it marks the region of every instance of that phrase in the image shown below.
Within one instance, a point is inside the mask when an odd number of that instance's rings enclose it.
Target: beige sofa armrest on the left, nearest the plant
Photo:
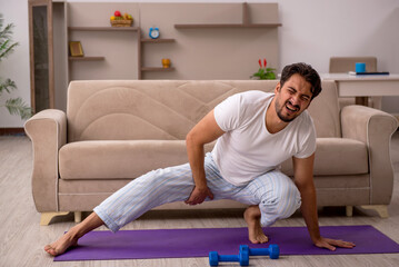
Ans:
[[[67,116],[61,110],[47,109],[24,123],[32,140],[32,195],[39,212],[58,210],[58,151],[67,142]]]

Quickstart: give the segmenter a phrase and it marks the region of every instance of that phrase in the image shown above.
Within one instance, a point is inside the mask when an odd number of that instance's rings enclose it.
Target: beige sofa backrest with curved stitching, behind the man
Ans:
[[[227,97],[275,90],[275,80],[92,80],[68,88],[68,141],[183,140],[189,130]],[[337,89],[322,82],[309,112],[318,137],[340,136]]]

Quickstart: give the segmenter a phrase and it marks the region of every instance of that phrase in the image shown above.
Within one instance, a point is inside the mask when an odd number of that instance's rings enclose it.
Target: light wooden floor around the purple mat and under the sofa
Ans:
[[[390,217],[381,219],[375,211],[355,209],[353,217],[345,208],[320,209],[321,226],[372,225],[399,243],[399,131],[391,142],[395,189],[389,206]],[[74,225],[72,216],[58,218],[50,226],[39,226],[31,195],[31,142],[27,137],[0,137],[0,266],[209,266],[208,258],[146,259],[53,263],[46,255],[46,244],[57,239]],[[232,211],[151,211],[124,229],[245,227],[242,210]],[[275,226],[305,226],[300,215],[278,221]],[[99,228],[106,230],[106,228]],[[283,256],[278,260],[251,258],[251,266],[399,266],[399,254]],[[239,266],[226,265],[222,266]]]

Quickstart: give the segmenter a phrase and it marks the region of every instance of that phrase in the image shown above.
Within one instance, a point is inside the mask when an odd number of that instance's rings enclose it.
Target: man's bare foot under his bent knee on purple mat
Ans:
[[[252,244],[263,244],[269,241],[260,225],[260,209],[258,206],[250,206],[246,209],[243,218],[248,225],[248,238]]]

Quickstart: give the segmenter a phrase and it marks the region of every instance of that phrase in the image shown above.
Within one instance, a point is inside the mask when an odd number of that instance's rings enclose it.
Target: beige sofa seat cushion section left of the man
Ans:
[[[186,162],[183,140],[79,141],[59,151],[61,179],[132,179]]]

